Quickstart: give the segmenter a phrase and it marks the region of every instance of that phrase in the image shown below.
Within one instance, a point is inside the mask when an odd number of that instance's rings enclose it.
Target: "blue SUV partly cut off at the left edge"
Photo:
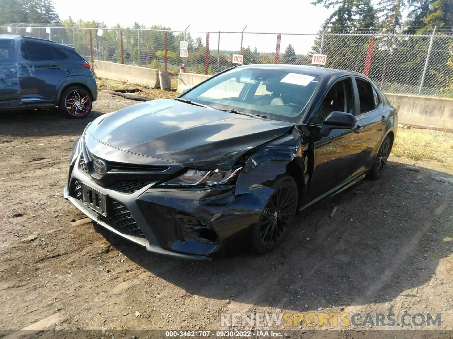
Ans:
[[[56,107],[86,117],[97,98],[90,64],[73,47],[0,34],[0,110]]]

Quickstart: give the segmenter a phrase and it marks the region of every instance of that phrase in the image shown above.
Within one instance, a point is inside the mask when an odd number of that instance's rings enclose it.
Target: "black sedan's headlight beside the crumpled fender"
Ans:
[[[232,184],[239,175],[242,167],[227,171],[221,170],[188,170],[177,178],[171,179],[162,186],[207,187],[220,184]]]

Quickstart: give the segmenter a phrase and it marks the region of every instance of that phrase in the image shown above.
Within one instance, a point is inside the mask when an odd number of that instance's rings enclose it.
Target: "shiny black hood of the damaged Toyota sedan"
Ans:
[[[186,167],[220,169],[231,167],[244,152],[293,127],[289,122],[162,99],[96,118],[87,132],[105,145],[132,154]]]

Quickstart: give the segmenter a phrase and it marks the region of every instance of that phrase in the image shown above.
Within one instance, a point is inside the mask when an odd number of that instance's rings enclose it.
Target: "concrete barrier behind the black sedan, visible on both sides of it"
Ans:
[[[178,93],[199,84],[211,75],[178,74]],[[453,129],[453,99],[407,94],[387,94],[390,104],[398,109],[398,122],[408,125]]]

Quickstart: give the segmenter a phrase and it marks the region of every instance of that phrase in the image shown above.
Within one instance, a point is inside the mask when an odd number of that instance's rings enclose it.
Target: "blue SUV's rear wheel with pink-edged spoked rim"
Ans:
[[[80,86],[69,86],[60,95],[58,108],[69,118],[85,118],[93,107],[93,98],[89,90]]]

